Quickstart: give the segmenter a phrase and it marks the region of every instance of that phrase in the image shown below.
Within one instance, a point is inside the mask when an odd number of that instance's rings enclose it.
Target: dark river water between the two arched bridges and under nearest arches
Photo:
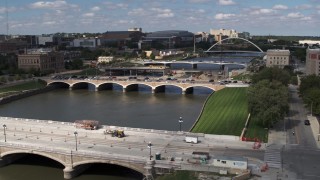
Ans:
[[[98,120],[100,124],[148,129],[188,131],[197,119],[208,90],[182,95],[175,89],[167,93],[122,91],[89,91],[58,89],[0,106],[0,115],[73,122]],[[59,180],[63,167],[49,159],[28,156],[0,168],[1,180]],[[110,169],[112,169],[110,171]],[[76,180],[141,179],[133,171],[110,165],[95,165]]]

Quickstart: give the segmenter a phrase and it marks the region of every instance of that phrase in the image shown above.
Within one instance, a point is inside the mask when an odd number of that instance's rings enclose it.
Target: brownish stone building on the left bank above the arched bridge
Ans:
[[[18,67],[27,71],[61,72],[64,70],[64,58],[62,53],[51,49],[31,49],[18,55]]]

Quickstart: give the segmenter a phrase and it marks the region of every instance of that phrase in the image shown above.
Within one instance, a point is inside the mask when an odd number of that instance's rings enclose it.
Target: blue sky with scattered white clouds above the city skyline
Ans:
[[[7,5],[6,5],[7,4]],[[6,8],[7,7],[7,8]],[[1,0],[0,34],[234,29],[320,36],[320,0]]]

